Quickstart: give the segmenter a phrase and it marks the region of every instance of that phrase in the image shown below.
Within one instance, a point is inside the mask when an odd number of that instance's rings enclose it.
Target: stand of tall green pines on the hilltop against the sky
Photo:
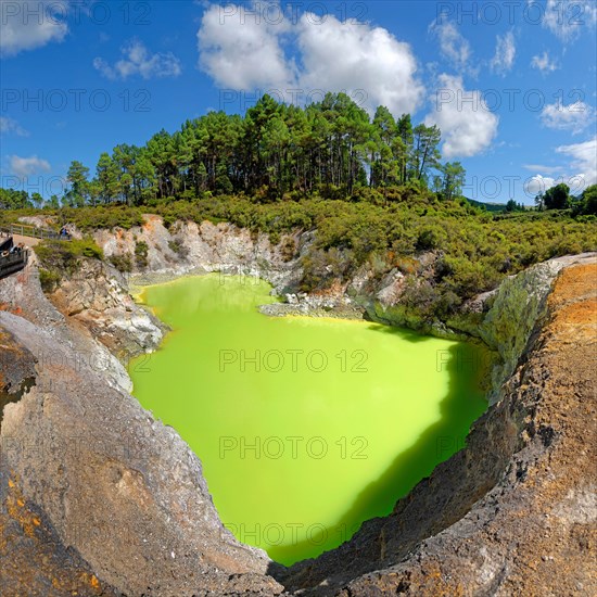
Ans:
[[[461,192],[465,169],[442,164],[436,126],[412,126],[379,106],[371,118],[345,93],[306,107],[261,98],[244,117],[209,112],[180,130],[161,130],[143,147],[119,144],[90,170],[78,161],[67,173],[68,206],[142,205],[167,198],[247,193],[279,199],[321,187],[351,194],[356,187],[417,180],[446,199]]]

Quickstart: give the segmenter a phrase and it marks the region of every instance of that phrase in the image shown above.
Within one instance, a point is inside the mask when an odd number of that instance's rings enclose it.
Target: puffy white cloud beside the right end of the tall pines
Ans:
[[[442,130],[445,158],[470,157],[491,145],[499,118],[488,110],[481,91],[465,89],[462,77],[440,75],[433,104],[425,124],[436,124]]]

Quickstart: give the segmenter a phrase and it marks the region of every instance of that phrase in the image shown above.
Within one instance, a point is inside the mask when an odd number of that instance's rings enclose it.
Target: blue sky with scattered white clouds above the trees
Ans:
[[[465,194],[533,203],[597,181],[597,3],[0,2],[0,183],[49,196],[71,161],[209,110],[344,90],[436,123]]]

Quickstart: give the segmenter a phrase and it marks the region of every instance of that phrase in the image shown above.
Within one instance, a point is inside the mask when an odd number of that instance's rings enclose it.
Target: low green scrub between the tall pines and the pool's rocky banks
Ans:
[[[113,206],[45,213],[90,231],[105,223],[110,223],[107,227],[128,228],[131,221],[141,223],[143,212],[147,209]],[[229,221],[268,233],[276,241],[284,238],[283,252],[289,259],[295,246],[284,233],[315,230],[315,242],[302,263],[304,291],[323,291],[336,280],[347,280],[364,264],[379,277],[397,268],[407,275],[419,274],[404,301],[429,317],[449,316],[467,298],[492,290],[505,276],[535,263],[597,249],[594,216],[575,218],[570,209],[491,214],[463,199],[445,201],[416,185],[360,190],[346,200],[316,194],[300,201],[261,203],[245,195],[205,196],[158,203],[152,213],[161,215],[166,226],[177,220]],[[46,242],[38,254],[41,251],[46,269],[67,270],[76,263],[76,255],[98,255],[97,247],[82,246],[78,241]],[[52,263],[60,262],[59,267],[45,265],[49,262],[46,247],[52,247]],[[420,271],[419,257],[430,252],[435,257],[433,271]],[[147,266],[147,255],[148,245],[138,240],[134,255],[137,267]],[[111,257],[111,262],[123,271],[132,268],[127,257]]]

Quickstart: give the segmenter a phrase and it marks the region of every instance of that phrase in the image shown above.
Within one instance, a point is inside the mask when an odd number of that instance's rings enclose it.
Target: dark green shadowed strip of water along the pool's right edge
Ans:
[[[384,333],[396,333],[412,341],[425,340],[425,336],[410,331],[384,326],[379,329]],[[396,456],[390,468],[377,481],[360,492],[353,506],[339,519],[338,532],[330,532],[330,529],[321,530],[310,533],[308,541],[271,547],[268,554],[275,561],[289,566],[313,558],[318,546],[322,550],[338,547],[347,541],[364,521],[388,516],[395,503],[408,494],[419,481],[429,477],[440,462],[465,447],[465,440],[472,422],[487,408],[487,403],[479,390],[484,355],[481,348],[467,343],[454,343],[446,352],[449,353],[449,357],[443,364],[442,372],[437,372],[449,376],[448,393],[440,405],[441,419],[429,427],[411,447]]]

